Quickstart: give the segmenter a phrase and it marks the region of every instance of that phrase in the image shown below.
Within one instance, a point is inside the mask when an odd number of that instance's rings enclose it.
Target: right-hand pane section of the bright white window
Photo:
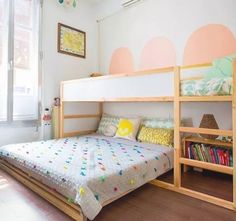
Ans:
[[[33,0],[15,0],[14,120],[38,117],[38,16]]]

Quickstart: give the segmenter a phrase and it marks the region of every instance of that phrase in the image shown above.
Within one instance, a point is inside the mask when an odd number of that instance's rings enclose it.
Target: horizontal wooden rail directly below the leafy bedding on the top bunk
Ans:
[[[182,96],[180,101],[184,102],[232,102],[232,96]]]

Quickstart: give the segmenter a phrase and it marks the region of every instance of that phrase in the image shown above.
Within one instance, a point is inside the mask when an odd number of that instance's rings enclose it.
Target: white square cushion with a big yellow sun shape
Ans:
[[[125,138],[128,140],[136,140],[140,122],[141,121],[139,118],[121,118],[115,137]]]

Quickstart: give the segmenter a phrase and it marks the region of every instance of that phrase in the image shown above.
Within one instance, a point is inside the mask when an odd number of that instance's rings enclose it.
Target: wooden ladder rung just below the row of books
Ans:
[[[208,163],[198,160],[192,160],[187,158],[180,158],[180,163],[188,166],[199,167],[206,170],[212,170],[219,173],[226,173],[233,175],[233,167],[223,166],[220,164]]]

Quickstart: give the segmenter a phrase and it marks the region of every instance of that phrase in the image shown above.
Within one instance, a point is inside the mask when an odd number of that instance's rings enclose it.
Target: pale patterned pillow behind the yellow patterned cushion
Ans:
[[[174,120],[171,118],[145,118],[142,125],[151,128],[174,128]]]

